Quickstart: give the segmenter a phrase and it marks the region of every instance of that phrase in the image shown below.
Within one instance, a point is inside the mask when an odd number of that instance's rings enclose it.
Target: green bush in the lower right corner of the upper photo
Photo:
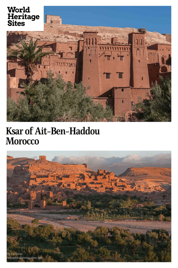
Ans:
[[[148,99],[137,105],[136,117],[146,122],[171,122],[171,79],[160,77],[161,85],[152,85]]]

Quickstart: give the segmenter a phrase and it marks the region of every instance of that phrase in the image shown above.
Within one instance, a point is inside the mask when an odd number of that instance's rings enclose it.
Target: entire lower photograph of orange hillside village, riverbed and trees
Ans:
[[[7,151],[7,262],[171,262],[171,151]]]

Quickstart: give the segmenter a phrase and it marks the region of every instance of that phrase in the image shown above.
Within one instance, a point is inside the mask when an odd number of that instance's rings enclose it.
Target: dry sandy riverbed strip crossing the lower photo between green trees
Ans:
[[[132,233],[146,233],[147,230],[152,229],[166,229],[171,234],[171,222],[160,221],[137,221],[131,219],[125,220],[111,220],[111,221],[85,221],[82,219],[75,220],[77,215],[64,215],[64,214],[49,214],[39,211],[16,211],[7,213],[8,218],[16,219],[21,225],[31,224],[32,219],[38,218],[39,224],[52,224],[54,227],[72,227],[77,230],[87,232],[88,230],[94,230],[98,226],[106,226],[109,229],[114,226],[120,228],[129,229]]]

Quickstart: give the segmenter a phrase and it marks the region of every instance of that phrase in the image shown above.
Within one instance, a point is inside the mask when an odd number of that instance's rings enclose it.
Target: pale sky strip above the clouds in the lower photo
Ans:
[[[138,155],[139,157],[153,157],[159,154],[168,154],[171,151],[7,151],[7,155],[17,157],[34,158],[39,155],[46,155],[46,159],[51,161],[55,156],[65,157],[126,157],[128,155]]]

